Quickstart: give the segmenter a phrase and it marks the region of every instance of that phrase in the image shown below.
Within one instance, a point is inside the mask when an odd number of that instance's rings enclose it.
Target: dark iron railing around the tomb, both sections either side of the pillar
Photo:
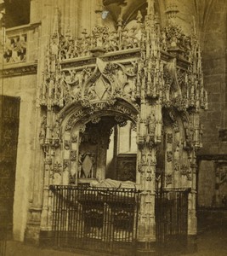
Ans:
[[[136,251],[139,191],[52,185],[52,245],[117,255]],[[186,241],[189,189],[156,191],[156,241]],[[181,244],[183,244],[181,243]]]

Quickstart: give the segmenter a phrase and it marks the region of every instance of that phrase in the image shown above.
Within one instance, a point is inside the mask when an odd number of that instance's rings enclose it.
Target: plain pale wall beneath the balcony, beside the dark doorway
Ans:
[[[4,79],[3,94],[20,97],[20,127],[18,137],[15,192],[14,192],[14,240],[23,241],[27,210],[32,191],[31,175],[34,167],[36,113],[36,76],[27,75]]]

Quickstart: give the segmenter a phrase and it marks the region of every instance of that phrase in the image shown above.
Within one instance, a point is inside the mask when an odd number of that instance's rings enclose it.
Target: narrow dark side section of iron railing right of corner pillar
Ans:
[[[166,243],[186,238],[189,189],[163,189],[156,192],[156,241]]]

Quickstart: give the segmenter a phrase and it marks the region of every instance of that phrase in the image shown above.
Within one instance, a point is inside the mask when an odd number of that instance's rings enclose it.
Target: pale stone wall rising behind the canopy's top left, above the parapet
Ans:
[[[55,9],[60,10],[61,32],[70,32],[72,36],[82,37],[82,32],[90,33],[94,24],[102,23],[101,0],[32,0],[31,24],[42,20],[43,32],[50,34],[53,30]],[[105,19],[105,24],[110,23],[110,15]],[[48,31],[47,31],[48,30]],[[47,33],[46,33],[47,32]]]

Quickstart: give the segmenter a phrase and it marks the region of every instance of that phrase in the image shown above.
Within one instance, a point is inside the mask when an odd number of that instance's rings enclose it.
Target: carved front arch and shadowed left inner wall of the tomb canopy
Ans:
[[[56,152],[55,159],[63,166],[63,172],[62,175],[54,173],[55,184],[91,183],[105,179],[111,133],[117,125],[126,125],[127,121],[134,126],[137,123],[139,110],[122,98],[111,103],[87,103],[72,103],[60,113],[62,147]]]

